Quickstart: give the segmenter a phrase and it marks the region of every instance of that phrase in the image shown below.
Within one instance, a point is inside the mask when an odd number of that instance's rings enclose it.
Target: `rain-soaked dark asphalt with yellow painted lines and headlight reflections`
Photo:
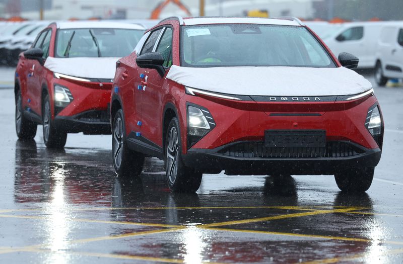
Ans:
[[[167,189],[155,158],[140,179],[116,178],[110,136],[69,134],[58,151],[41,127],[17,140],[9,72],[0,69],[1,263],[403,262],[403,87],[375,87],[386,129],[366,194],[342,194],[329,175],[221,173],[189,195]]]

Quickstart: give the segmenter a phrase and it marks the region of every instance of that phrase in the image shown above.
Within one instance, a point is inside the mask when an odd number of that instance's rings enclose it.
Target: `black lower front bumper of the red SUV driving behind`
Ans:
[[[66,133],[110,135],[110,111],[86,111],[75,116],[56,116],[53,124]]]

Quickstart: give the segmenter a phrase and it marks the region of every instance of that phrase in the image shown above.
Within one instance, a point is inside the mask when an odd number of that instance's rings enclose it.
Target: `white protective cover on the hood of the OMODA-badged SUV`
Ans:
[[[363,76],[345,67],[180,67],[167,78],[192,88],[253,96],[355,95],[372,88]]]

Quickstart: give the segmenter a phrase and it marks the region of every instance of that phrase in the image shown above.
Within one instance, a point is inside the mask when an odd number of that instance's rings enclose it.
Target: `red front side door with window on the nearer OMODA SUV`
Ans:
[[[163,28],[154,51],[164,57],[166,70],[172,65],[172,33],[171,27]],[[146,69],[146,86],[142,94],[142,133],[144,138],[162,147],[162,98],[165,76],[161,76],[156,69]],[[166,73],[165,73],[166,75]]]

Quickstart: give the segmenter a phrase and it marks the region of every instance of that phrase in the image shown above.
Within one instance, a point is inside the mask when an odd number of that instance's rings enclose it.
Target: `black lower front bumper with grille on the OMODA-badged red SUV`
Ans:
[[[182,157],[186,166],[204,173],[225,170],[228,175],[314,175],[334,174],[348,167],[374,167],[380,160],[381,150],[367,149],[348,141],[333,141],[328,142],[326,149],[319,153],[301,148],[270,149],[265,148],[263,142],[249,141],[215,149],[191,148]]]

